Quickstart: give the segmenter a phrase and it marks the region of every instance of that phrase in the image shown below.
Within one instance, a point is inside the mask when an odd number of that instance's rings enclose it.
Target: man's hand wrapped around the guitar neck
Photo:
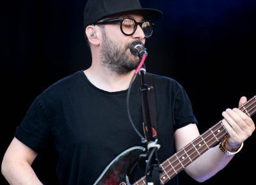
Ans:
[[[239,107],[246,103],[246,101],[246,97],[241,97]],[[227,108],[222,115],[224,117],[222,120],[223,126],[228,132],[225,147],[228,151],[236,151],[239,146],[252,135],[255,130],[255,124],[251,117],[238,108]]]

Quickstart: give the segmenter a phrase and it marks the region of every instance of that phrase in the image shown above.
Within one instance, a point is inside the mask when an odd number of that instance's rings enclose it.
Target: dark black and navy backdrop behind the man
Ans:
[[[7,3],[7,4],[4,4]],[[90,66],[83,33],[85,0],[20,0],[1,10],[0,158],[34,98],[60,78]],[[203,132],[256,95],[255,0],[141,0],[164,16],[148,38],[147,71],[184,86]],[[253,120],[256,122],[256,115]],[[226,168],[200,184],[255,183],[256,133]],[[56,184],[51,152],[33,163],[38,176]],[[249,170],[250,168],[250,170]],[[180,185],[199,184],[180,172]],[[0,184],[8,184],[3,175]]]

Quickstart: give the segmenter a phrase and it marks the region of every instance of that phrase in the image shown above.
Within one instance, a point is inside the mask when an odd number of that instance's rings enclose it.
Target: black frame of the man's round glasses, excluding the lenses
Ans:
[[[122,23],[123,23],[123,21],[124,21],[125,19],[131,19],[131,20],[133,20],[134,23],[135,23],[135,24],[134,24],[133,31],[132,31],[131,34],[124,33]],[[131,36],[132,34],[134,34],[135,31],[136,31],[136,29],[137,29],[137,27],[138,27],[138,25],[140,25],[140,27],[141,27],[144,22],[149,22],[150,25],[152,25],[152,33],[150,34],[150,36],[152,36],[152,34],[153,34],[153,27],[154,27],[154,23],[153,23],[153,22],[151,22],[150,20],[143,20],[142,22],[136,22],[136,20],[134,20],[134,18],[131,18],[131,17],[107,18],[107,19],[99,20],[99,21],[95,22],[93,25],[97,25],[97,24],[108,24],[108,23],[113,23],[113,22],[120,22],[120,29],[121,29],[122,33],[123,33],[124,35],[126,35],[126,36]],[[142,27],[141,27],[141,29],[142,29]],[[142,30],[143,30],[143,29],[142,29]],[[144,33],[144,31],[143,31],[143,33]],[[144,34],[145,34],[145,33],[144,33]],[[146,37],[146,38],[149,38],[150,36],[145,36],[145,37]]]

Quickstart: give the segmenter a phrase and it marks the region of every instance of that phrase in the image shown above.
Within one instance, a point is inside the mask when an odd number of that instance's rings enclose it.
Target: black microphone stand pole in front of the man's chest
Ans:
[[[139,75],[141,79],[141,105],[143,110],[143,124],[146,133],[147,139],[147,159],[146,159],[146,182],[149,185],[159,185],[160,184],[160,172],[162,172],[159,167],[159,161],[157,159],[157,149],[159,149],[160,145],[156,144],[157,139],[153,137],[152,131],[152,123],[150,119],[150,111],[149,111],[149,103],[148,103],[148,85],[145,84],[145,68],[141,68]],[[153,183],[153,184],[152,184]]]

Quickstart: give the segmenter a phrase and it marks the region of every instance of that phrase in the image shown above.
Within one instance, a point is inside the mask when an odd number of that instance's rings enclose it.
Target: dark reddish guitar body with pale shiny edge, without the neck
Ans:
[[[129,185],[127,174],[131,172],[131,167],[134,166],[144,151],[145,148],[140,146],[125,150],[109,163],[93,185]]]

